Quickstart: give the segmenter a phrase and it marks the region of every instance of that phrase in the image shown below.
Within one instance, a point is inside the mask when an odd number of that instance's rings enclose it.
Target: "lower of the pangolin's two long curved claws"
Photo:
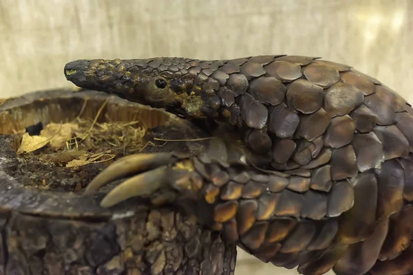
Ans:
[[[166,166],[161,166],[127,179],[109,192],[100,201],[100,206],[108,208],[130,197],[150,195],[161,186],[167,184],[166,168]]]

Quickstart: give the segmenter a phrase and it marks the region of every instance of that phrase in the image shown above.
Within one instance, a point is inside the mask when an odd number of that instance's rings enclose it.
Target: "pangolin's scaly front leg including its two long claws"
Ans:
[[[260,170],[242,162],[242,155],[229,154],[231,161],[222,161],[162,154],[119,160],[96,177],[88,192],[118,178],[120,167],[128,179],[109,192],[103,207],[133,196],[151,197],[162,188],[172,188],[178,196],[189,193],[199,221],[222,232],[226,241],[264,262],[299,265],[304,274],[323,274],[346,251],[330,248],[337,236],[336,216],[353,204],[346,181],[330,193],[318,192],[308,190],[310,179],[299,171]],[[332,217],[325,219],[329,213]]]

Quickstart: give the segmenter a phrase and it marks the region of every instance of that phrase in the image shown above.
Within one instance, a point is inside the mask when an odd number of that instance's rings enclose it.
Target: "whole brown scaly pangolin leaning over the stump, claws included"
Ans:
[[[226,131],[224,159],[120,159],[88,187],[129,177],[102,206],[169,187],[262,261],[302,274],[413,272],[413,109],[378,80],[306,56],[73,61],[65,76]]]

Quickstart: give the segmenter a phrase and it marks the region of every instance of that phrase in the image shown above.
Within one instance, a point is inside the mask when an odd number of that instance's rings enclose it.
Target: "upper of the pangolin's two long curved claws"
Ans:
[[[85,194],[90,194],[98,190],[98,188],[108,184],[110,181],[168,164],[171,157],[172,155],[170,153],[142,153],[123,157],[97,175],[87,186]]]

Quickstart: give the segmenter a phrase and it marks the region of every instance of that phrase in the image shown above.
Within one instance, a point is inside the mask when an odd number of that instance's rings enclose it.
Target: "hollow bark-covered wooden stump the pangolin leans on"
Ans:
[[[96,91],[41,91],[0,103],[0,274],[233,274],[236,249],[173,206],[129,199],[100,208],[105,190],[83,195],[107,164],[76,169],[16,153],[25,127],[68,122],[138,120],[165,139],[203,137],[192,124],[158,109]],[[198,153],[202,142],[167,142],[144,152]],[[34,154],[35,155],[35,154]],[[47,177],[49,189],[40,188]],[[44,183],[44,182],[43,182]]]

